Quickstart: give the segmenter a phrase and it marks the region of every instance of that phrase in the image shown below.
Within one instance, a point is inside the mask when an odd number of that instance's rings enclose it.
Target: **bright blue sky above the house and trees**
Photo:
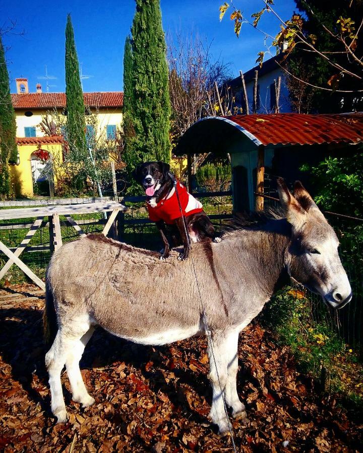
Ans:
[[[219,22],[218,8],[221,0],[161,0],[165,32],[190,32],[197,30],[201,37],[212,41],[215,58],[230,63],[234,77],[240,69],[246,71],[255,65],[259,50],[264,50],[264,35],[244,24],[240,37],[233,33],[233,23],[226,14]],[[293,0],[275,0],[276,10],[283,19],[291,17]],[[37,77],[48,74],[56,80],[49,81],[51,92],[65,91],[64,48],[67,13],[72,14],[77,52],[83,63],[83,73],[92,75],[83,81],[85,92],[119,91],[123,89],[123,53],[127,34],[134,17],[134,0],[58,0],[29,2],[17,0],[1,2],[0,17],[16,21],[19,32],[4,37],[8,47],[7,61],[12,80],[12,92],[16,91],[17,77],[29,79],[29,91],[35,92],[39,82],[45,91],[45,81]],[[246,17],[263,7],[262,0],[234,0]],[[260,27],[267,33],[276,34],[278,23],[271,14],[265,15]]]

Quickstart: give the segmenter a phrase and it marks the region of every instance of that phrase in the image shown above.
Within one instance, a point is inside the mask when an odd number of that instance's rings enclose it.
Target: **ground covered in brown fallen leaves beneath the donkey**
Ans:
[[[81,361],[96,404],[82,411],[64,373],[70,420],[56,425],[43,303],[29,284],[0,290],[0,451],[231,451],[230,438],[220,438],[207,419],[204,339],[154,348],[96,331]],[[249,416],[246,424],[233,422],[238,451],[361,451],[361,414],[299,374],[288,349],[258,323],[241,333],[238,357],[237,389]]]

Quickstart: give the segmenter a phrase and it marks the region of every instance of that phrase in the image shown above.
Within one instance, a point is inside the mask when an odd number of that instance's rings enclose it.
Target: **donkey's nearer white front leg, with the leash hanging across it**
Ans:
[[[225,413],[222,398],[222,394],[225,395],[228,379],[227,365],[229,343],[229,335],[226,335],[224,332],[213,333],[211,338],[208,338],[208,377],[213,390],[213,400],[209,418],[212,423],[218,425],[219,434],[221,435],[227,434],[229,431],[227,415]]]

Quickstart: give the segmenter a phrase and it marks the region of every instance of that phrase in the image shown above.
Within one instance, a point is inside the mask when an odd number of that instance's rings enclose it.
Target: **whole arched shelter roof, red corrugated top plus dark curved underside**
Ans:
[[[243,134],[252,145],[354,144],[363,142],[363,113],[277,113],[202,118],[173,149],[175,155],[219,153]]]

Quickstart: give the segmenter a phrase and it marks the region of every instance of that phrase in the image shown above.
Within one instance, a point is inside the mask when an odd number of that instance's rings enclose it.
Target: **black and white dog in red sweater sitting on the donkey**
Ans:
[[[145,162],[137,166],[135,177],[145,190],[149,218],[156,222],[164,243],[164,250],[160,259],[167,258],[170,251],[166,223],[171,227],[173,245],[179,245],[180,239],[183,243],[184,251],[179,259],[187,260],[190,245],[175,193],[174,181],[176,180],[174,175],[170,173],[170,166],[164,162]],[[176,189],[185,216],[190,241],[214,240],[219,242],[220,239],[216,237],[214,226],[204,212],[202,204],[188,193],[186,187],[179,181],[176,181]]]

